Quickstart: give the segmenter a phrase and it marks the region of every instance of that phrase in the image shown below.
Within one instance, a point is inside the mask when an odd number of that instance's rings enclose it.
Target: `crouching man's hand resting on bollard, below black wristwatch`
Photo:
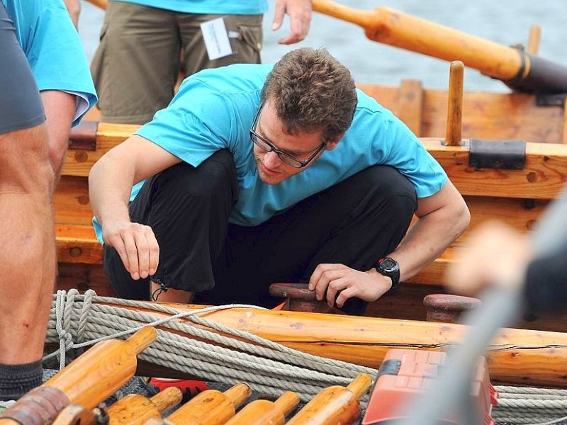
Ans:
[[[376,270],[358,271],[344,264],[319,264],[309,279],[309,290],[315,290],[318,300],[341,308],[349,298],[378,300],[392,287],[392,280]]]

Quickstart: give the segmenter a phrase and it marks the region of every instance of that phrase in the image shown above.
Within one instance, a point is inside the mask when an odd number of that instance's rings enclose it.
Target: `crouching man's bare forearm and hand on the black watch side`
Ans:
[[[434,261],[465,231],[471,220],[464,199],[450,181],[433,196],[419,198],[415,215],[419,220],[398,248],[388,255],[400,264],[400,280],[414,276]],[[382,276],[374,268],[357,271],[344,264],[320,264],[309,280],[309,289],[315,290],[318,300],[326,293],[331,307],[335,297],[337,307],[342,307],[350,297],[368,302],[378,300],[391,286],[391,278]]]

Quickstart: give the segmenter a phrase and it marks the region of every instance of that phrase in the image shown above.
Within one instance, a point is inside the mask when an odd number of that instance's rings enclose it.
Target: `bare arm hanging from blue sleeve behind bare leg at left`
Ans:
[[[43,108],[47,118],[47,135],[49,136],[49,157],[55,177],[61,173],[69,131],[75,115],[75,96],[65,91],[45,90],[41,92]]]

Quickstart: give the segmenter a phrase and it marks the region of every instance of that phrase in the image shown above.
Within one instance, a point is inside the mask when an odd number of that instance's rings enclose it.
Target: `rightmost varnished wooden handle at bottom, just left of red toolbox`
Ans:
[[[288,425],[336,425],[352,424],[360,416],[359,399],[369,389],[372,378],[361,373],[347,387],[333,385],[322,390]]]

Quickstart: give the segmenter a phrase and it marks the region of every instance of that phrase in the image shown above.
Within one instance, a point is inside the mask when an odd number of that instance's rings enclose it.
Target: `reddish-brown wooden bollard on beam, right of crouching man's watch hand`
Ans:
[[[461,295],[431,294],[423,298],[427,322],[459,323],[461,313],[481,304],[481,300]]]

